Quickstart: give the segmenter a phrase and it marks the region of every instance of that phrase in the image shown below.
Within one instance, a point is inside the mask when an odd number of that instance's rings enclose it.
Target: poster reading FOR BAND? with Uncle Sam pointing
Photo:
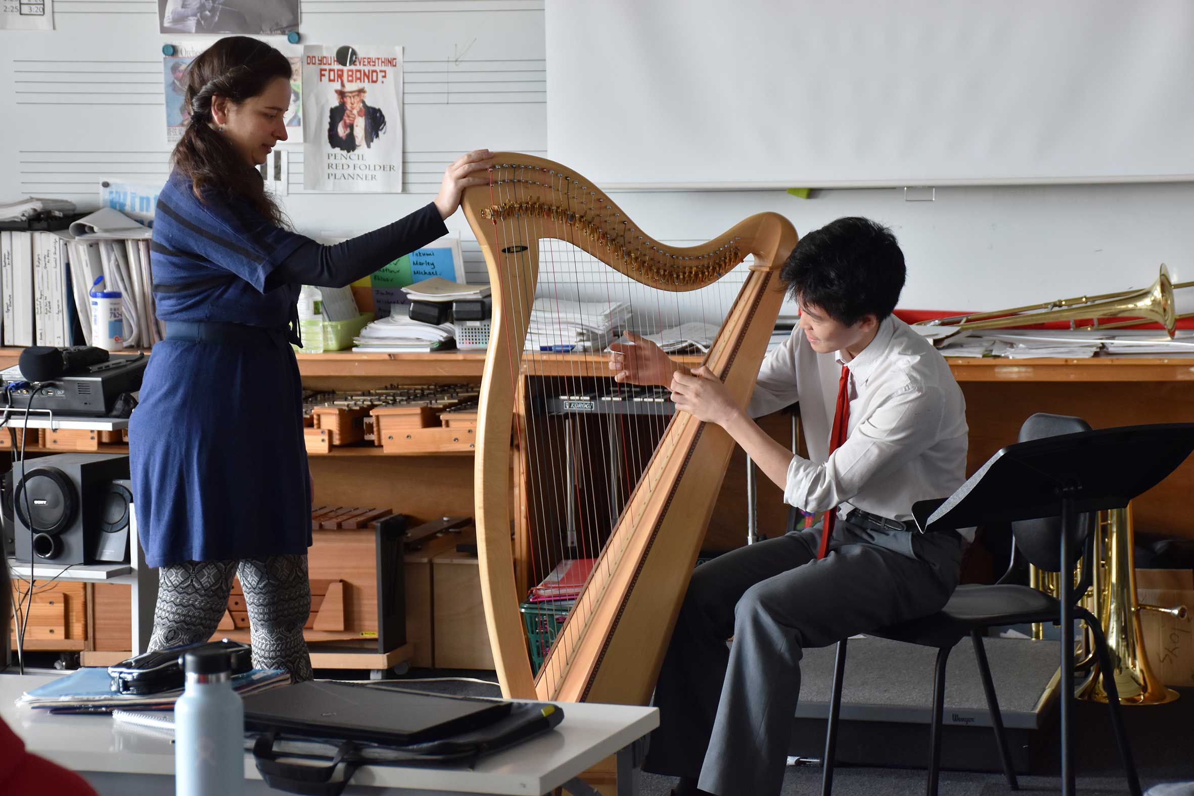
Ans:
[[[402,48],[302,54],[303,187],[401,193]]]

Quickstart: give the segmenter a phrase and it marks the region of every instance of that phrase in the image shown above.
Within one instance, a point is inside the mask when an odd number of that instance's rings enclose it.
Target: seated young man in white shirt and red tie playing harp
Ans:
[[[613,346],[617,381],[670,385],[677,408],[722,426],[784,502],[825,512],[694,573],[645,765],[678,776],[677,794],[778,794],[804,649],[931,613],[958,585],[962,537],[915,532],[911,508],[965,481],[965,402],[941,354],[892,316],[904,273],[894,235],[873,221],[806,235],[781,271],[799,328],[764,359],[745,409],[706,368],[688,372],[633,335]],[[751,419],[796,401],[807,459]]]

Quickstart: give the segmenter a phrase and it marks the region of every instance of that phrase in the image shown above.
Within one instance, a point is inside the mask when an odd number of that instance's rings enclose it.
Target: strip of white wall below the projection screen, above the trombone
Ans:
[[[709,239],[752,212],[786,215],[800,234],[860,215],[892,228],[909,266],[900,307],[998,309],[1147,286],[1168,264],[1194,280],[1194,183],[936,189],[615,193],[642,229],[667,242]],[[1180,310],[1194,310],[1194,290]]]

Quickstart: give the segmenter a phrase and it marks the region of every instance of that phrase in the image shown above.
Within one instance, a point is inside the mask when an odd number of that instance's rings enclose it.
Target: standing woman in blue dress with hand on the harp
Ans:
[[[137,525],[160,568],[150,648],[205,641],[240,574],[253,665],[310,679],[310,476],[302,432],[302,284],[343,286],[447,234],[490,153],[448,167],[435,202],[337,246],[283,224],[256,166],[287,140],[290,62],[233,36],[190,66],[191,119],[158,199],[154,346],[129,424]]]

